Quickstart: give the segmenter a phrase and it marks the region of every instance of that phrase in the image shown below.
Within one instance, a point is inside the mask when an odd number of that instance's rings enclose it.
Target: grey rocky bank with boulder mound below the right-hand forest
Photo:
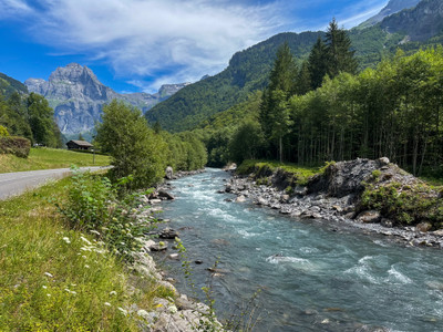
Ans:
[[[277,169],[265,175],[234,175],[226,183],[225,191],[237,195],[236,201],[250,200],[295,218],[323,220],[329,222],[333,231],[339,230],[340,226],[352,227],[368,234],[387,236],[405,246],[443,248],[443,229],[432,230],[429,222],[400,226],[396,220],[387,218],[378,210],[365,209],[362,194],[365,184],[371,181],[378,188],[400,184],[400,191],[422,184],[388,158],[358,158],[329,165],[306,186],[295,186],[292,174]],[[429,196],[424,198],[435,198],[441,193],[427,190],[422,195]]]

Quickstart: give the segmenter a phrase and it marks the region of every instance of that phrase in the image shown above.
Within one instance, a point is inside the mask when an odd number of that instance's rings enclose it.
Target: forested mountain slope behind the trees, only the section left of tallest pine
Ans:
[[[266,86],[277,48],[287,41],[295,54],[307,56],[323,32],[280,33],[237,52],[223,72],[204,76],[146,112],[150,123],[181,132],[194,128],[209,116],[244,102]]]

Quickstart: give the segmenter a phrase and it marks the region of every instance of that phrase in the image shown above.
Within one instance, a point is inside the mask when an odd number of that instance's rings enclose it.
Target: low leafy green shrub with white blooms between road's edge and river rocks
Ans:
[[[141,248],[140,239],[155,225],[138,220],[143,212],[135,207],[144,193],[125,194],[119,199],[119,188],[131,178],[123,178],[116,185],[101,175],[81,173],[74,169],[73,185],[69,188],[68,201],[55,203],[73,229],[94,234],[116,255],[133,261],[133,252]]]

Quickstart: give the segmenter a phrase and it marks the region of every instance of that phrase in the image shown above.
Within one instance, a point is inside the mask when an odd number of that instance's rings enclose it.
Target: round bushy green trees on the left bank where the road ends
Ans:
[[[131,176],[127,189],[146,188],[165,176],[165,168],[189,170],[207,162],[204,144],[190,133],[169,134],[148,126],[138,108],[116,100],[103,107],[94,145],[111,155],[112,180]]]

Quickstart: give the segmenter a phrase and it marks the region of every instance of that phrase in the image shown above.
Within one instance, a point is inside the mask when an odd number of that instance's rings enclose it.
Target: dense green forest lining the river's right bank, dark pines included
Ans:
[[[442,174],[443,48],[399,50],[358,73],[347,32],[332,21],[306,62],[288,44],[269,85],[205,121],[209,165],[271,158],[300,165],[387,156],[414,175]]]

